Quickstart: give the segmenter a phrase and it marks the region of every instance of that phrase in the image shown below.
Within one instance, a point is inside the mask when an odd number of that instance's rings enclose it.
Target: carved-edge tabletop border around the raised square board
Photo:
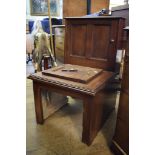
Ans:
[[[115,73],[109,71],[103,71],[97,77],[92,79],[88,83],[79,83],[71,80],[66,80],[58,77],[48,76],[42,74],[42,72],[31,74],[28,78],[33,81],[46,83],[48,85],[65,88],[79,93],[89,94],[94,96],[99,90],[101,90],[106,82],[113,78]]]

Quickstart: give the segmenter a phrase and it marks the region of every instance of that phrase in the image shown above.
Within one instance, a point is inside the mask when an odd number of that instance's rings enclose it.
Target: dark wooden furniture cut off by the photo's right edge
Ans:
[[[129,29],[126,28],[125,62],[122,77],[115,134],[112,140],[112,150],[116,155],[129,154]]]

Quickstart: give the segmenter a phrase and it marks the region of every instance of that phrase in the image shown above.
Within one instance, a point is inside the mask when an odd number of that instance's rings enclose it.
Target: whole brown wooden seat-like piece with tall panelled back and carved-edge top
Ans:
[[[123,25],[124,19],[120,17],[66,18],[65,67],[29,76],[33,80],[37,123],[44,122],[42,89],[80,98],[83,100],[82,142],[92,143],[103,125],[104,88],[115,75],[115,57],[121,46]],[[85,67],[91,67],[93,75]],[[95,76],[97,71],[99,74]],[[74,77],[79,77],[80,81]]]

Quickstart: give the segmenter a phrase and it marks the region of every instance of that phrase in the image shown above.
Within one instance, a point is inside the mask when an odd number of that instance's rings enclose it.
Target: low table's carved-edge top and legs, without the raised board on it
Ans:
[[[42,89],[79,98],[83,100],[82,141],[90,145],[103,124],[104,91],[102,88],[113,75],[113,72],[103,71],[86,84],[47,76],[41,72],[30,75],[29,78],[33,80],[37,123],[43,124],[44,122],[41,101]]]

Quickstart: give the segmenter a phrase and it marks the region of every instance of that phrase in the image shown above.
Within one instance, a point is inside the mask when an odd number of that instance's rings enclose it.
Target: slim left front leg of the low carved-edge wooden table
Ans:
[[[43,108],[41,102],[41,88],[37,82],[33,81],[34,103],[36,112],[36,121],[38,124],[43,124]]]

